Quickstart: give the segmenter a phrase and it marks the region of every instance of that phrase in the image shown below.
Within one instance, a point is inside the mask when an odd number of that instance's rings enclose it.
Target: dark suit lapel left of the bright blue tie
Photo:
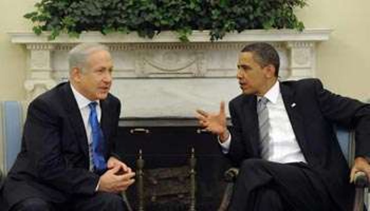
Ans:
[[[83,154],[88,157],[87,136],[84,122],[69,82],[64,85],[63,91],[65,96],[65,100],[63,101],[64,107],[67,110],[68,119],[72,125],[71,128],[77,137],[78,144]]]

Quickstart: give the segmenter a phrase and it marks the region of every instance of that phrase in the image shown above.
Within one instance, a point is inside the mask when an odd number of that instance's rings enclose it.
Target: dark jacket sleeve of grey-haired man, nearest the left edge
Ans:
[[[42,99],[33,101],[24,127],[25,149],[30,155],[31,165],[38,180],[67,194],[93,194],[99,176],[83,167],[75,167],[66,159],[68,150],[62,154],[62,139],[69,139],[64,119],[57,108]],[[69,134],[70,135],[70,134]],[[78,144],[69,147],[78,147]],[[72,151],[72,150],[71,150]],[[74,152],[71,152],[74,153]],[[76,161],[80,162],[80,161]]]

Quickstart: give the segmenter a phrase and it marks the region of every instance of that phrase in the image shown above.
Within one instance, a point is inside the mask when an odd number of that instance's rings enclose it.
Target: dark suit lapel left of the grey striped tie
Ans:
[[[248,136],[253,149],[253,155],[260,157],[259,127],[256,96],[245,96],[242,104],[243,117],[246,128],[243,136]]]

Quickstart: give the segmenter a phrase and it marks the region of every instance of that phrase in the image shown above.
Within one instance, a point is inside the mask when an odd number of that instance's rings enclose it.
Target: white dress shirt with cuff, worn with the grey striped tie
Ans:
[[[269,99],[266,104],[269,113],[269,141],[266,146],[268,150],[262,158],[277,163],[306,162],[305,157],[297,143],[292,124],[285,109],[282,95],[280,93],[279,81],[265,94]],[[260,97],[258,97],[259,99]],[[228,140],[220,143],[223,153],[228,153],[231,142],[231,134]]]

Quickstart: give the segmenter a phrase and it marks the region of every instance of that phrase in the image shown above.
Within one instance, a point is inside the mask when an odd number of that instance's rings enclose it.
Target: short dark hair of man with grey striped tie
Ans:
[[[275,76],[279,75],[280,59],[279,54],[272,45],[266,42],[255,42],[247,45],[241,52],[251,52],[253,59],[261,66],[273,65],[275,67]]]

